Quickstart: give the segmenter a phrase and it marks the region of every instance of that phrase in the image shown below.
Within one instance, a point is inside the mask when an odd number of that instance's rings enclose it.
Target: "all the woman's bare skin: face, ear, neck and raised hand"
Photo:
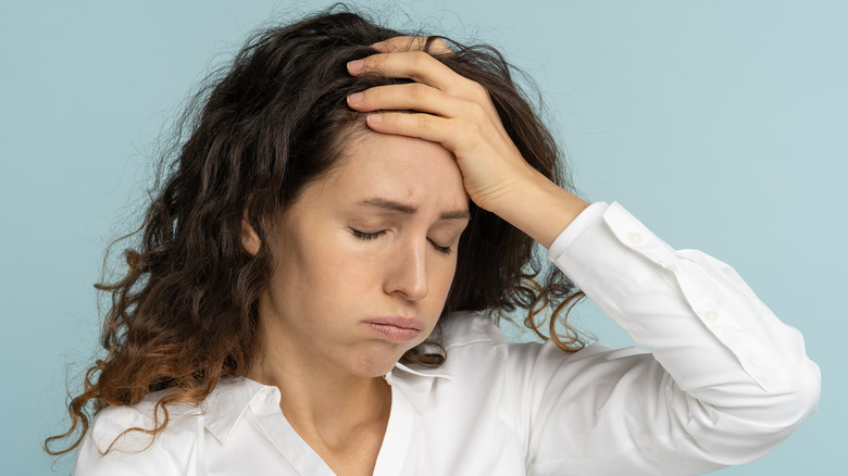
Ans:
[[[486,90],[423,45],[392,38],[374,46],[383,53],[348,64],[351,75],[415,80],[351,95],[350,108],[419,113],[367,115],[376,134],[308,187],[271,243],[280,259],[260,301],[265,354],[251,378],[279,388],[286,418],[339,475],[373,473],[390,409],[381,376],[438,320],[456,268],[456,253],[438,247],[456,252],[467,198],[546,248],[588,206],[531,167]],[[415,212],[362,205],[373,198]],[[362,239],[351,228],[385,233]],[[252,230],[244,240],[258,249]],[[386,314],[424,325],[414,339],[389,342],[363,324]]]

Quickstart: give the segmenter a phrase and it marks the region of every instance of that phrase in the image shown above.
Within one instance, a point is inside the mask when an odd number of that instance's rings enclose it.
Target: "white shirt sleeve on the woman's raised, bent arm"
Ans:
[[[702,474],[762,456],[819,401],[819,367],[728,265],[595,203],[549,258],[648,348],[510,348],[531,474]]]

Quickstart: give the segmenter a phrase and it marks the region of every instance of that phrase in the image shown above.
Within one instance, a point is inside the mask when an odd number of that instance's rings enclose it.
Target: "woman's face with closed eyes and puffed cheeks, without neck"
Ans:
[[[275,229],[265,345],[315,371],[385,375],[436,325],[467,222],[441,146],[371,131],[352,140]]]

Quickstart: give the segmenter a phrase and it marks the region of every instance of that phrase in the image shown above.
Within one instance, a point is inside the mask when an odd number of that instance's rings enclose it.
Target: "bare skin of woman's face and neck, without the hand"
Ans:
[[[337,474],[373,471],[390,409],[381,377],[435,327],[467,216],[452,153],[365,131],[275,227],[251,378],[280,389],[284,415]],[[422,326],[392,341],[367,324],[385,316]]]

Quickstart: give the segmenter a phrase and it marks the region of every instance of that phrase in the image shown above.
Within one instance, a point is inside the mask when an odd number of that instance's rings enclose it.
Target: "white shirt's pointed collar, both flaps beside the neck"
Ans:
[[[449,373],[439,368],[403,365],[400,362],[386,374],[386,381],[402,391],[419,413],[424,412],[433,381],[450,379]],[[246,377],[225,377],[202,403],[204,426],[222,443],[229,438],[236,423],[257,399],[267,399],[279,406],[279,389]]]

